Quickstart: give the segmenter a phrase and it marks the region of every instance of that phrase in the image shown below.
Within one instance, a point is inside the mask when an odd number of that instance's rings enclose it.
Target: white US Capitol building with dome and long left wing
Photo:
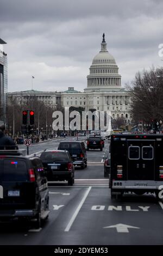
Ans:
[[[83,107],[86,111],[111,111],[113,119],[124,117],[130,124],[130,95],[121,87],[121,75],[115,58],[106,48],[105,35],[101,43],[101,51],[93,58],[90,74],[87,75],[87,87],[84,92],[78,92],[69,87],[65,92],[39,92],[27,90],[8,93],[8,104],[16,99],[26,102],[28,99],[43,101],[46,105],[60,105],[62,107]]]

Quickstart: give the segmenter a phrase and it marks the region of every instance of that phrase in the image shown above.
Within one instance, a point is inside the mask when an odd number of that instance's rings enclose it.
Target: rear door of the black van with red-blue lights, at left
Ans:
[[[34,207],[35,184],[29,181],[27,161],[24,159],[3,159],[1,167],[3,209],[29,209]]]

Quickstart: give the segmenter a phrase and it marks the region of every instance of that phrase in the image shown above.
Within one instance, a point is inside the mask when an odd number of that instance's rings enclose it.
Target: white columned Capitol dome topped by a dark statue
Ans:
[[[115,58],[108,52],[105,42],[105,34],[101,43],[101,51],[93,58],[90,66],[90,74],[87,76],[87,89],[90,92],[96,89],[120,89],[121,75],[118,74],[118,66]]]

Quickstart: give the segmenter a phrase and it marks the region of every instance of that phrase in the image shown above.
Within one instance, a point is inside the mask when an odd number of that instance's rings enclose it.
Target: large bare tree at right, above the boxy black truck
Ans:
[[[138,72],[127,88],[131,93],[131,113],[135,123],[140,120],[156,123],[163,118],[162,69]]]

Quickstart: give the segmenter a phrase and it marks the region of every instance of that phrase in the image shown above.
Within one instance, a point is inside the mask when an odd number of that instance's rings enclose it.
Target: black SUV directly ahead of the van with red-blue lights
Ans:
[[[74,184],[74,166],[67,150],[46,149],[40,159],[49,181],[68,180],[68,185]]]

